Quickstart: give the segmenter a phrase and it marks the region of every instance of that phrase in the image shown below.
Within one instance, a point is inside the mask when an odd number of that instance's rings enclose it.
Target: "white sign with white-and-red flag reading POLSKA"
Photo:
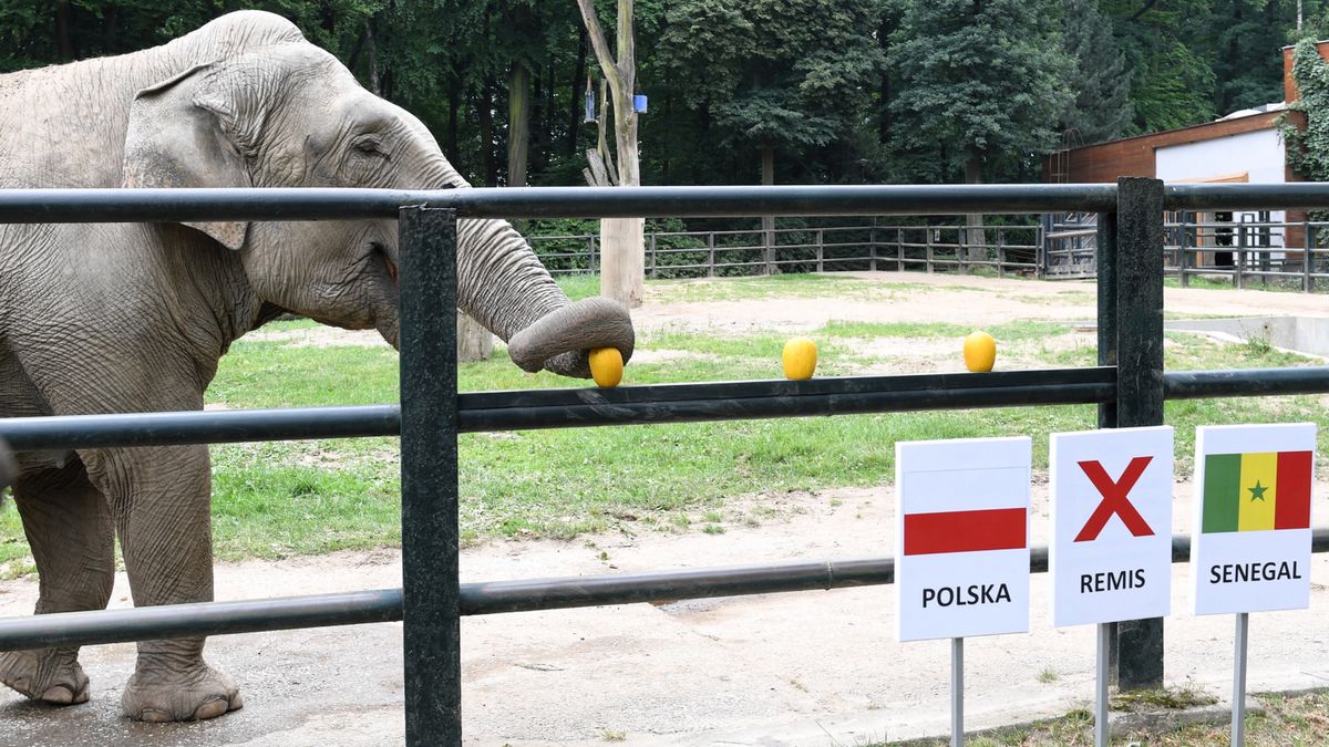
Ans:
[[[901,641],[1029,630],[1030,441],[896,443]]]

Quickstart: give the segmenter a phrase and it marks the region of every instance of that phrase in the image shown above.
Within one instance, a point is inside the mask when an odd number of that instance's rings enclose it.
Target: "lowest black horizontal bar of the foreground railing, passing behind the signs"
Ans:
[[[1312,532],[1312,552],[1329,552],[1329,530]],[[1189,558],[1189,537],[1174,534],[1172,562]],[[1047,548],[1030,549],[1029,570],[1047,572]],[[893,584],[894,576],[894,558],[868,558],[462,584],[461,614],[844,589]],[[0,619],[0,651],[399,619],[400,589],[60,613]]]

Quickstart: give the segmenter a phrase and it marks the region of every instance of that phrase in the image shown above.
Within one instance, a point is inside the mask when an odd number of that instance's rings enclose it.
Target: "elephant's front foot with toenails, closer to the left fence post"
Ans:
[[[159,723],[213,719],[245,702],[230,677],[198,662],[183,673],[140,669],[125,685],[120,706],[134,720]]]

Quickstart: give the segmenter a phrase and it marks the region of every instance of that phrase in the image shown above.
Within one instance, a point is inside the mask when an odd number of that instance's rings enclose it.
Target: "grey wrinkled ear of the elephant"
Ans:
[[[231,76],[218,72],[217,64],[195,65],[134,96],[125,136],[126,187],[254,186],[246,141],[258,128],[239,126],[249,106],[229,94],[222,80]],[[233,250],[245,246],[249,233],[242,221],[185,225]]]

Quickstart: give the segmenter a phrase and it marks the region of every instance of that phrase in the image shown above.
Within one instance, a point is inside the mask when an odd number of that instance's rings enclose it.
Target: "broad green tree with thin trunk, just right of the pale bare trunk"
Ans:
[[[696,124],[714,128],[714,148],[758,152],[772,185],[777,153],[797,161],[853,141],[884,61],[877,15],[876,0],[682,0],[666,12],[659,62]],[[769,262],[775,219],[763,229]]]

